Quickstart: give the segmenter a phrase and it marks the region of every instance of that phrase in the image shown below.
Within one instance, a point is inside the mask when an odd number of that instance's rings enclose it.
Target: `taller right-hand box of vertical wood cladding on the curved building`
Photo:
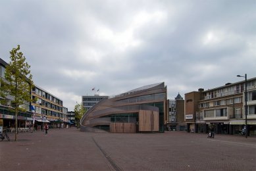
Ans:
[[[139,131],[158,132],[159,131],[159,112],[151,110],[140,110],[139,112]]]

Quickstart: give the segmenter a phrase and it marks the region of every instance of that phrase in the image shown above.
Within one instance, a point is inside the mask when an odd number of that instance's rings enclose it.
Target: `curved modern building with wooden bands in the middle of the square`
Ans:
[[[80,120],[82,131],[93,128],[107,132],[164,132],[167,118],[165,83],[133,89],[103,99]]]

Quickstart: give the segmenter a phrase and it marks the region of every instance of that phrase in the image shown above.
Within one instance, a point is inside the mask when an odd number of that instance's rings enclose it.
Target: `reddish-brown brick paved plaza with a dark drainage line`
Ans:
[[[256,137],[186,132],[18,134],[0,142],[0,170],[256,170]]]

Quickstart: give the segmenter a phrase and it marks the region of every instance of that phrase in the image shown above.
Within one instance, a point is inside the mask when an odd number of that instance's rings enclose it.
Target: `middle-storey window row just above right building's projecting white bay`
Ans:
[[[219,101],[210,101],[205,103],[199,103],[199,108],[206,108],[206,107],[217,107],[222,105],[231,105],[236,103],[242,103],[242,97],[235,97],[230,99],[224,99]]]

